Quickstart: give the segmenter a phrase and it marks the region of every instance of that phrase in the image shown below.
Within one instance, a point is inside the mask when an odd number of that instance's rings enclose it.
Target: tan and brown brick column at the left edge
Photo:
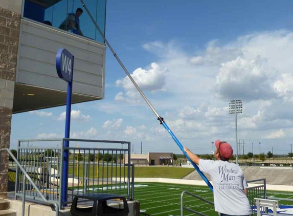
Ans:
[[[0,148],[10,146],[19,26],[20,14],[0,7]],[[2,154],[0,168],[0,192],[4,192],[8,186],[8,154]]]

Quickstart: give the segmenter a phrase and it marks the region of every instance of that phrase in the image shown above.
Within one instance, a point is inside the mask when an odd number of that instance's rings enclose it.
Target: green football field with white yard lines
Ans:
[[[79,188],[82,192],[82,187]],[[91,192],[116,193],[125,195],[126,185],[89,186]],[[141,215],[181,215],[181,193],[188,191],[213,202],[213,193],[207,186],[181,185],[169,183],[135,183],[134,200],[140,202]],[[293,199],[293,192],[267,191],[267,197]],[[207,215],[218,215],[214,206],[189,195],[184,196],[184,206]],[[290,201],[279,201],[281,205],[292,205]],[[195,215],[191,211],[184,210],[184,215]]]

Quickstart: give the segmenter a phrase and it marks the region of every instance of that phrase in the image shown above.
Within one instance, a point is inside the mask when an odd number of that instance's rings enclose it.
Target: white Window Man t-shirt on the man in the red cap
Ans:
[[[242,169],[228,161],[199,160],[199,169],[211,176],[214,185],[215,210],[223,214],[252,214],[244,188],[247,183]]]

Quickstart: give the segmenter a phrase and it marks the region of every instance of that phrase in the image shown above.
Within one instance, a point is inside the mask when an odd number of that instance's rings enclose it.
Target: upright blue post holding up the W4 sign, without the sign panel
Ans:
[[[74,56],[72,65],[74,64]],[[67,82],[67,97],[66,97],[66,119],[65,119],[65,136],[70,138],[70,118],[71,118],[71,97],[72,97],[73,71],[72,79]],[[69,140],[64,141],[64,147],[69,147]],[[69,150],[63,152],[63,170],[62,170],[62,203],[67,202],[67,187],[68,187],[68,165],[69,165]]]

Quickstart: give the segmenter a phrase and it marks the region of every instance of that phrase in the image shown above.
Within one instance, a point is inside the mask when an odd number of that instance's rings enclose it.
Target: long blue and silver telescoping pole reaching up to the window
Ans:
[[[111,50],[111,52],[113,53],[113,55],[115,56],[115,58],[117,59],[117,61],[119,62],[120,66],[123,68],[124,72],[127,74],[127,76],[129,77],[129,79],[131,80],[131,82],[134,84],[134,86],[137,88],[137,90],[139,91],[139,93],[141,94],[141,96],[144,98],[144,100],[147,102],[147,104],[149,105],[150,109],[152,110],[152,112],[154,113],[154,115],[157,117],[157,120],[160,121],[160,123],[167,129],[167,131],[169,132],[169,134],[171,135],[171,137],[173,138],[173,140],[176,142],[176,144],[178,145],[178,147],[182,150],[182,152],[184,153],[184,155],[187,157],[187,159],[190,161],[190,163],[193,165],[193,167],[196,169],[196,171],[198,172],[199,176],[207,183],[207,185],[209,186],[209,188],[213,191],[213,185],[209,182],[209,180],[207,179],[207,177],[199,170],[198,166],[188,157],[188,155],[186,154],[186,152],[184,151],[184,147],[183,145],[179,142],[179,140],[176,138],[176,136],[173,134],[173,132],[171,131],[171,129],[168,127],[168,125],[166,124],[166,122],[164,121],[163,117],[161,117],[154,109],[154,107],[152,106],[152,104],[149,102],[149,100],[147,99],[147,97],[145,96],[145,94],[142,92],[142,90],[139,88],[138,84],[136,83],[136,81],[134,81],[134,79],[131,77],[131,75],[129,74],[129,72],[127,71],[127,69],[125,68],[124,64],[122,63],[122,61],[119,59],[119,57],[117,56],[117,54],[115,53],[115,51],[112,49],[112,47],[110,46],[108,40],[106,39],[105,35],[103,34],[103,32],[100,30],[96,20],[93,18],[92,14],[88,11],[86,5],[84,4],[83,0],[80,0],[82,7],[84,7],[84,9],[86,10],[86,12],[88,13],[89,17],[92,19],[94,25],[96,26],[98,32],[100,33],[100,35],[102,36],[102,38],[105,41],[105,44],[109,47],[109,49]]]

